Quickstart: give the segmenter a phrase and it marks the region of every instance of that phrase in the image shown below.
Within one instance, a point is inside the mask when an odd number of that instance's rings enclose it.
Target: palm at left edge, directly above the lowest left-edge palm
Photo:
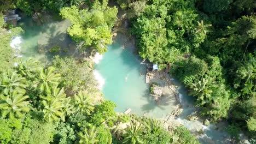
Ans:
[[[27,86],[26,79],[16,74],[14,71],[10,72],[8,70],[7,73],[2,73],[0,79],[0,91],[5,95],[14,92],[14,89],[22,91],[22,88],[26,88]]]

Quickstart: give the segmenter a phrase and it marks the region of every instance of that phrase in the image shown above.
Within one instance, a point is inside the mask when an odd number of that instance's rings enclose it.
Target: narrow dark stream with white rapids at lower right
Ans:
[[[181,85],[177,80],[171,79],[176,85],[176,89],[179,93],[180,104],[182,105],[183,112],[177,117],[177,121],[188,128],[191,133],[195,134],[199,141],[205,143],[230,143],[230,137],[228,133],[223,129],[225,124],[210,124],[206,126],[203,124],[204,119],[195,119],[195,121],[189,121],[187,116],[196,116],[197,109],[194,106],[193,97],[188,96],[187,89],[184,85]],[[220,128],[220,129],[219,129]]]

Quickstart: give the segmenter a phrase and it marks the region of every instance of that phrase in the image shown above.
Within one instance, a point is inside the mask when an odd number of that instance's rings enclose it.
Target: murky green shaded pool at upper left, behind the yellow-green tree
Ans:
[[[37,23],[31,17],[22,17],[18,26],[25,30],[21,34],[20,54],[24,59],[33,57],[41,62],[50,62],[54,55],[70,55],[74,52],[75,44],[67,35],[66,29],[71,23],[67,20]],[[53,46],[60,46],[61,50],[50,53]],[[67,49],[68,51],[64,51]]]

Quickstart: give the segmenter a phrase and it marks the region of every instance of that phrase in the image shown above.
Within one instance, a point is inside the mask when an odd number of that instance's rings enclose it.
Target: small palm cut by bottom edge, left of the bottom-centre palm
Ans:
[[[89,130],[85,128],[84,131],[80,131],[78,135],[80,138],[79,143],[94,144],[98,142],[96,139],[97,131],[95,126],[92,126]]]

